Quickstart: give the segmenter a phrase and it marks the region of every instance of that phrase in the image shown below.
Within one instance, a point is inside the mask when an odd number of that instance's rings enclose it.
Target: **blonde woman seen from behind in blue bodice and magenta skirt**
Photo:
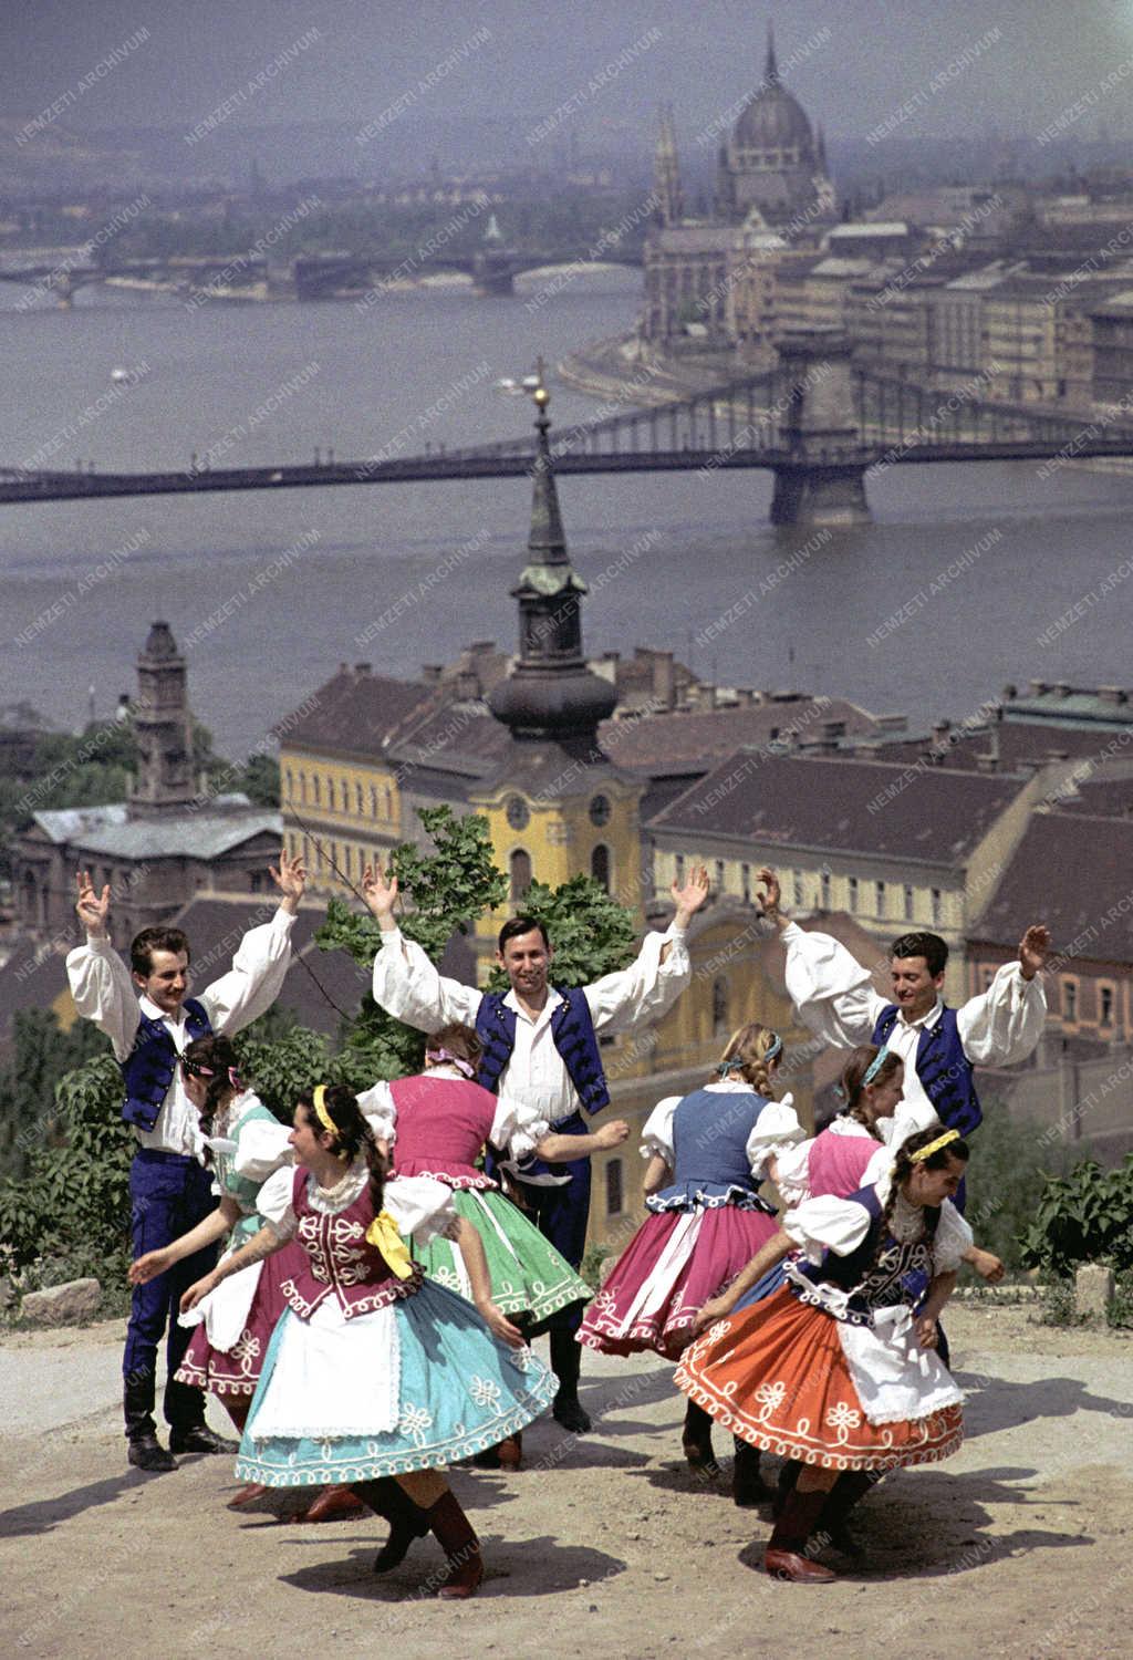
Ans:
[[[705,1298],[773,1237],[775,1210],[760,1199],[760,1184],[775,1179],[776,1159],[803,1137],[791,1097],[771,1094],[781,1056],[781,1038],[750,1021],[728,1039],[713,1081],[654,1107],[642,1132],[652,1215],[610,1268],[579,1343],[678,1360]],[[712,1418],[692,1399],[682,1441],[692,1467],[715,1474]],[[735,1454],[735,1501],[756,1504],[760,1454],[740,1438]]]

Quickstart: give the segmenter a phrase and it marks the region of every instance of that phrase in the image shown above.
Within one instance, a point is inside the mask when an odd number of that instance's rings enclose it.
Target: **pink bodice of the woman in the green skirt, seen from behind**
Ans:
[[[418,1076],[400,1077],[390,1094],[398,1114],[398,1175],[433,1175],[446,1187],[496,1187],[476,1169],[499,1106],[491,1091],[463,1077]]]

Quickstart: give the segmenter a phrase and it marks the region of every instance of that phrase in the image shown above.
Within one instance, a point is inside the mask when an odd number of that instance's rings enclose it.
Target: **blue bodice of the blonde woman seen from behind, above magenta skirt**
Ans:
[[[751,1175],[746,1145],[765,1096],[750,1091],[693,1089],[673,1112],[673,1179],[652,1194],[650,1210],[715,1210],[740,1205],[766,1210],[758,1197],[760,1182]]]

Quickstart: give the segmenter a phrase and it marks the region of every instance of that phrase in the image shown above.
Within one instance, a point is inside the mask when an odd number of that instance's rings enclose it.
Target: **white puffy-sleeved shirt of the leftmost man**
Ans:
[[[214,979],[204,991],[189,989],[201,1003],[214,1033],[242,1031],[270,1009],[279,996],[290,966],[290,931],[295,918],[277,910],[269,923],[249,928],[241,940],[232,968]],[[111,1041],[114,1059],[124,1061],[134,1046],[141,1016],[161,1021],[181,1054],[189,1042],[186,1016],[173,1019],[149,998],[139,998],[126,963],[109,940],[88,938],[66,958],[66,976],[71,984],[75,1008],[83,1019],[93,1021]],[[134,1127],[141,1147],[153,1152],[176,1152],[199,1157],[202,1149],[199,1114],[184,1092],[181,1067],[174,1067],[173,1082],[151,1130]]]

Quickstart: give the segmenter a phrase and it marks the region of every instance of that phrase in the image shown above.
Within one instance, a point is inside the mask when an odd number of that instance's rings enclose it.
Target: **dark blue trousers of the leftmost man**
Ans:
[[[212,1177],[196,1159],[141,1147],[129,1167],[129,1237],[133,1255],[173,1245],[216,1210]],[[158,1346],[166,1338],[166,1421],[174,1429],[204,1423],[204,1393],[174,1381],[192,1336],[177,1325],[181,1293],[216,1267],[217,1247],[207,1245],[174,1263],[148,1285],[134,1286],[126,1328],[123,1378],[126,1433],[153,1434]]]

